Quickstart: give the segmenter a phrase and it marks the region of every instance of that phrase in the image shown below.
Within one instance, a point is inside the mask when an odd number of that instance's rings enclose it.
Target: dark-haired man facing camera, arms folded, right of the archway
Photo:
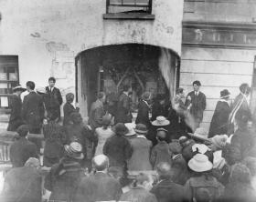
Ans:
[[[204,110],[207,106],[206,96],[199,91],[201,83],[199,81],[193,82],[194,91],[187,95],[186,103],[189,114],[194,119],[194,128],[196,130],[203,120]]]

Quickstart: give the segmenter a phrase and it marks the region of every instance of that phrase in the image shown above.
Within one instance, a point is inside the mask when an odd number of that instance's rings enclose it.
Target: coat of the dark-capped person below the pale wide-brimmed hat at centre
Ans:
[[[151,151],[150,162],[154,170],[156,170],[156,166],[160,162],[167,162],[171,165],[171,160],[172,157],[171,152],[169,151],[169,145],[165,141],[161,141],[153,147]]]

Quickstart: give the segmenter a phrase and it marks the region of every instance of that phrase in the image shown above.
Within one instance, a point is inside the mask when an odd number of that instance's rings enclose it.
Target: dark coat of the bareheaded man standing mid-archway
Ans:
[[[124,93],[119,96],[115,123],[132,123],[131,98]]]

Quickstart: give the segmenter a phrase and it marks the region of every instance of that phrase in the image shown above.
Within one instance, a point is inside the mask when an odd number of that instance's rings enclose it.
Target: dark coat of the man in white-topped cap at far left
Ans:
[[[9,125],[7,127],[7,130],[16,131],[16,128],[23,124],[21,118],[22,102],[20,96],[13,95],[10,98],[11,116],[9,118]]]

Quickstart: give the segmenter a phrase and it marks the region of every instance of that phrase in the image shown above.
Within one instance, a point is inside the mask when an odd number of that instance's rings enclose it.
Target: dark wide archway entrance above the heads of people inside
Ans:
[[[104,91],[114,105],[124,85],[132,86],[133,112],[140,96],[173,96],[179,79],[179,56],[171,50],[139,44],[106,45],[76,57],[76,87],[82,116],[87,116],[97,93]]]

